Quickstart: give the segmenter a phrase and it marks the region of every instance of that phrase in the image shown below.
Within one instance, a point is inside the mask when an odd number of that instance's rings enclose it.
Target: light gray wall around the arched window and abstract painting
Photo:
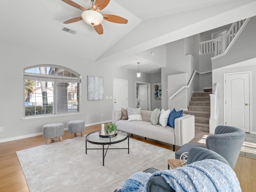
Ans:
[[[50,45],[49,45],[50,46]],[[42,132],[42,126],[48,123],[62,122],[64,127],[70,120],[82,119],[86,125],[112,120],[113,102],[106,96],[113,96],[113,78],[128,80],[128,106],[135,108],[135,82],[150,82],[150,74],[142,73],[136,77],[136,71],[99,64],[84,58],[76,58],[54,52],[37,50],[7,42],[0,42],[0,63],[2,89],[0,94],[0,142],[7,138],[35,136]],[[80,112],[77,115],[52,118],[34,118],[24,120],[24,81],[23,69],[38,64],[56,64],[70,68],[81,74]],[[104,100],[87,100],[87,76],[102,76],[104,80]],[[101,117],[101,114],[104,114]],[[89,116],[89,119],[86,118]],[[5,140],[4,140],[5,139]]]

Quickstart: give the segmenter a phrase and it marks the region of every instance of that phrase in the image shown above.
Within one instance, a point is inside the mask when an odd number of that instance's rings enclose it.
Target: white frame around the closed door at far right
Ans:
[[[226,122],[226,76],[227,75],[236,75],[236,74],[249,74],[249,133],[252,133],[252,71],[241,71],[241,72],[232,72],[223,74],[223,124]]]

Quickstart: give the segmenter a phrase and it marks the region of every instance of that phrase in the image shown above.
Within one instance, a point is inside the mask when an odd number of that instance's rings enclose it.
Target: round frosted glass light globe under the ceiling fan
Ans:
[[[82,12],[82,18],[84,22],[92,26],[101,24],[104,19],[102,14],[94,10],[86,10]]]

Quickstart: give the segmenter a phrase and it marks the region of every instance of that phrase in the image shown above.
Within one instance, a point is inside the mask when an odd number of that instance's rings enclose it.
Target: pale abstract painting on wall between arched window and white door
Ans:
[[[88,100],[103,100],[103,77],[87,76]]]

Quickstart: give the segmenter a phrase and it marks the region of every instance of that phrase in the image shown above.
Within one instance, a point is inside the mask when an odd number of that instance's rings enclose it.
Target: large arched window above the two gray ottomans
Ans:
[[[80,74],[56,65],[24,69],[24,116],[79,112]]]

